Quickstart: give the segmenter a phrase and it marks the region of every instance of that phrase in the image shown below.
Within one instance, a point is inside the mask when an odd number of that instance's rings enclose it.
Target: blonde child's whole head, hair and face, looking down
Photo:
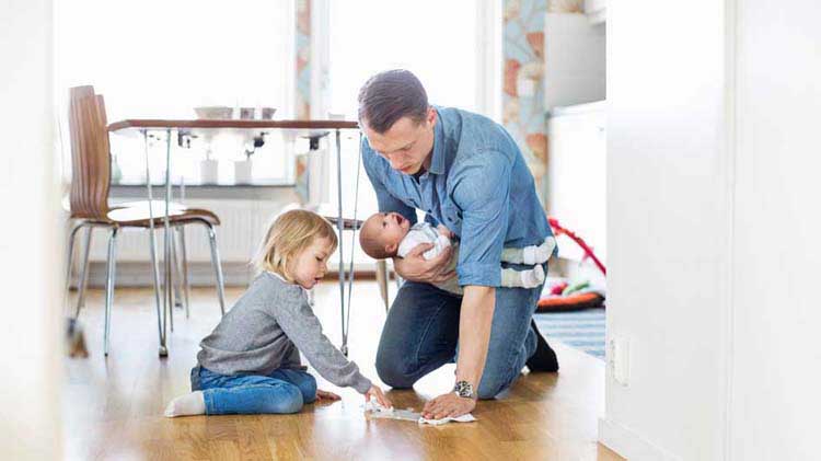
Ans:
[[[311,211],[290,210],[277,217],[263,240],[254,263],[259,270],[279,274],[302,288],[313,288],[327,270],[336,250],[331,223]]]

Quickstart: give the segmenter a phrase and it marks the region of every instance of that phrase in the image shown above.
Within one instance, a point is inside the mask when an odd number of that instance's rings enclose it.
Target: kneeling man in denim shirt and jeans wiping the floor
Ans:
[[[556,354],[532,320],[543,284],[501,286],[500,267],[528,268],[502,263],[502,249],[541,245],[552,237],[533,176],[510,135],[481,115],[431,106],[406,70],[368,80],[359,92],[359,123],[366,135],[362,162],[379,210],[413,224],[419,209],[426,221],[460,241],[461,296],[436,287],[452,275],[450,247],[426,260],[433,244],[423,243],[394,258],[406,283],[382,330],[377,354],[382,381],[410,388],[455,358],[453,389],[423,411],[439,419],[470,413],[477,399],[493,399],[525,364],[531,371],[556,371]]]

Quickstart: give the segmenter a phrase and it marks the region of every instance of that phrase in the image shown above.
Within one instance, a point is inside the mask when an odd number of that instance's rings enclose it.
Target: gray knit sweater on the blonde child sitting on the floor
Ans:
[[[199,365],[220,374],[269,374],[301,367],[299,353],[325,379],[366,393],[359,367],[322,333],[302,287],[263,273],[199,344]]]

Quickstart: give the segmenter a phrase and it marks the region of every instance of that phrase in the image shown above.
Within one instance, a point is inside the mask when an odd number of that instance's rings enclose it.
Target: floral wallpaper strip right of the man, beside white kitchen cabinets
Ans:
[[[576,13],[582,0],[504,0],[502,124],[519,143],[541,191],[547,166],[544,120],[544,16]]]

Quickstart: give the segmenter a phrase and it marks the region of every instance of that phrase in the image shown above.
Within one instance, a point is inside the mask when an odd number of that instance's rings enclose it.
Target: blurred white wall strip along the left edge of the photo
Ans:
[[[60,458],[51,1],[0,3],[0,459]],[[60,323],[61,324],[61,323]]]

